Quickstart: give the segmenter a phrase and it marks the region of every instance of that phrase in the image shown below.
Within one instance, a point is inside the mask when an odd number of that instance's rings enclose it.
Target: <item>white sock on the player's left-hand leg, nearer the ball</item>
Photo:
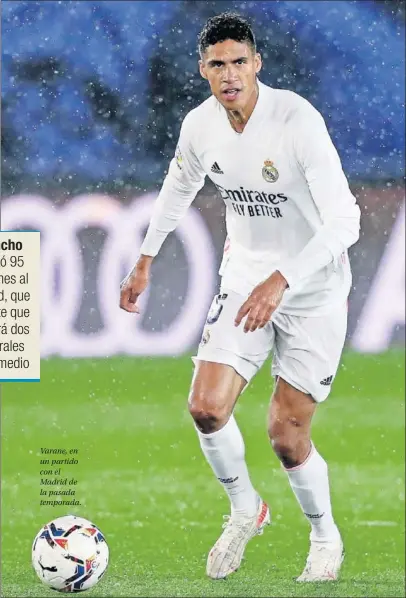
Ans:
[[[197,433],[204,456],[230,498],[231,513],[255,515],[258,495],[251,484],[244,440],[234,415],[217,432],[203,434],[197,430]]]

